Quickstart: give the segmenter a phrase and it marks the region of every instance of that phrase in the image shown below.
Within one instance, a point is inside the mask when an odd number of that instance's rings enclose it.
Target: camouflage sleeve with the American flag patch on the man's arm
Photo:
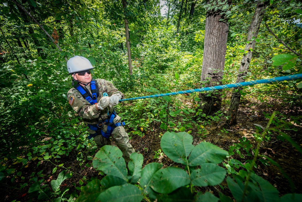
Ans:
[[[69,105],[81,118],[96,119],[99,117],[101,111],[98,111],[95,105],[88,103],[75,88],[68,91],[67,98],[69,100]]]

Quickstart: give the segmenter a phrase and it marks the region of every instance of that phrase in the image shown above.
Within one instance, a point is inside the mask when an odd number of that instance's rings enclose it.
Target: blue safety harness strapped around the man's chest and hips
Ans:
[[[76,85],[76,90],[78,90],[82,96],[92,105],[96,104],[97,101],[97,96],[98,96],[98,89],[97,89],[97,83],[96,81],[93,79],[90,82],[90,89],[91,89],[91,93],[92,93],[92,97],[89,95],[89,93],[80,85],[77,84]],[[105,93],[104,93],[105,94]],[[105,96],[108,96],[107,93],[105,94]],[[113,123],[113,119],[116,117],[117,113],[115,112],[115,110],[113,110],[113,112],[111,114],[108,114],[108,119],[106,120],[102,120],[102,122],[98,122],[95,125],[90,125],[88,124],[89,129],[95,131],[95,134],[90,134],[88,136],[88,139],[90,140],[91,138],[94,138],[97,135],[103,135],[105,138],[109,138],[111,133],[113,132],[113,130],[118,127],[118,126],[124,126],[125,122],[118,122],[116,124]],[[104,127],[104,125],[107,125],[107,131],[104,132],[102,129]]]

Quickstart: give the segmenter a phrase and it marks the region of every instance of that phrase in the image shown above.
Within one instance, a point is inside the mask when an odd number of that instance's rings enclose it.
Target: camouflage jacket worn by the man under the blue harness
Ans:
[[[107,96],[103,97],[103,93],[107,93],[108,96],[112,96],[115,93],[120,93],[124,97],[124,94],[118,91],[112,83],[104,79],[96,79],[96,82],[98,84],[97,86],[99,92],[97,101],[99,102],[101,100],[100,105],[107,106],[104,107],[104,109],[101,111],[98,111],[95,105],[91,105],[75,88],[71,88],[67,93],[67,98],[72,109],[76,111],[76,113],[82,118],[85,123],[91,125],[97,124],[98,122],[107,119],[108,111],[109,114],[111,114],[114,110],[114,106],[109,105],[109,99]],[[91,94],[90,85],[87,86],[86,89]],[[90,129],[88,129],[88,132],[92,134],[95,133]]]

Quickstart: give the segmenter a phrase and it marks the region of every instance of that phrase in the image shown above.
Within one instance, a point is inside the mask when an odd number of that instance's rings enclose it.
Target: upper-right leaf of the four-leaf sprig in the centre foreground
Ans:
[[[201,142],[194,147],[188,159],[189,166],[197,166],[203,163],[221,163],[226,158],[227,151],[209,143]]]

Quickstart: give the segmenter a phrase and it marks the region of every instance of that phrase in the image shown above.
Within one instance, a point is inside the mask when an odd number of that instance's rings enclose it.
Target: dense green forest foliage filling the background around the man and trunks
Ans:
[[[196,102],[200,101],[196,93],[188,95],[185,99],[182,96],[173,96],[137,100],[117,106],[120,116],[126,120],[129,135],[143,137],[153,133],[156,134],[154,138],[162,137],[162,148],[154,151],[154,158],[159,158],[165,153],[174,162],[186,166],[190,178],[184,171],[180,171],[180,168],[161,169],[161,165],[157,163],[148,164],[141,169],[142,156],[138,154],[132,156],[133,160],[128,163],[127,172],[123,160],[113,161],[116,158],[121,159],[121,155],[118,151],[112,150],[114,157],[102,151],[102,155],[108,158],[105,161],[108,167],[100,166],[107,174],[101,181],[92,180],[84,187],[89,179],[83,177],[78,180],[79,183],[73,183],[70,190],[59,186],[71,174],[72,176],[79,174],[71,171],[72,169],[67,166],[69,161],[66,159],[73,159],[72,161],[79,165],[80,169],[84,169],[84,165],[90,164],[89,161],[92,160],[97,149],[95,144],[86,138],[87,127],[75,117],[74,111],[67,103],[66,92],[71,87],[71,79],[67,75],[65,57],[67,59],[73,55],[87,57],[95,67],[93,76],[112,81],[127,98],[199,88],[202,85],[200,75],[207,8],[205,2],[184,1],[181,10],[182,1],[170,1],[169,19],[160,15],[158,1],[127,1],[126,10],[122,8],[120,1],[108,0],[17,2],[21,3],[50,35],[56,28],[59,37],[57,45],[63,51],[59,52],[56,45],[50,42],[37,24],[15,3],[7,1],[0,5],[2,14],[0,15],[0,138],[2,140],[0,181],[2,183],[11,184],[12,189],[20,192],[27,193],[30,190],[29,195],[34,200],[41,201],[72,201],[78,197],[77,191],[80,190],[96,200],[109,200],[107,196],[120,192],[127,192],[126,195],[128,194],[129,197],[133,194],[137,200],[141,200],[141,190],[150,199],[157,198],[161,201],[218,200],[208,192],[198,193],[196,196],[192,194],[194,186],[216,184],[218,180],[215,178],[222,178],[225,172],[215,165],[221,162],[224,152],[219,153],[214,145],[205,142],[194,147],[185,133],[186,131],[204,138],[208,134],[207,125],[224,119],[223,111],[205,116],[201,110],[196,110]],[[236,81],[246,45],[247,28],[258,1],[246,2],[238,1],[230,5],[221,1],[222,4],[219,4],[219,9],[229,17],[230,30],[223,84]],[[194,15],[191,15],[191,8],[194,8]],[[256,46],[253,50],[250,70],[245,79],[254,80],[301,72],[299,54],[302,50],[300,37],[302,29],[294,22],[294,19],[300,19],[300,14],[299,2],[281,0],[269,2],[259,37],[255,39]],[[179,16],[180,27],[176,34]],[[133,64],[131,77],[128,75],[124,44],[124,17],[127,17],[130,28]],[[267,30],[265,23],[278,39],[297,54],[283,46]],[[267,94],[274,99],[279,96],[279,94],[272,94],[271,91],[297,90],[302,88],[302,83],[299,82],[300,80],[250,86],[245,87],[240,93],[247,98],[258,93],[257,100],[261,103],[269,103],[268,99],[265,99]],[[270,93],[260,94],[262,91]],[[225,105],[230,102],[228,93],[229,90],[223,92]],[[285,106],[300,106],[300,99],[295,95],[280,96]],[[273,104],[269,104],[274,107]],[[270,118],[268,113],[264,116]],[[277,133],[280,140],[291,142],[300,151],[299,145],[283,131],[299,131],[295,124],[299,125],[300,119],[299,116],[287,117],[277,113],[271,122],[274,128],[270,130],[260,128],[255,138],[270,141],[272,134]],[[166,135],[162,136],[166,131],[168,131]],[[175,135],[178,133],[174,132],[178,131],[183,132],[182,135]],[[227,131],[223,129],[220,134],[226,133]],[[167,142],[165,139],[169,136],[167,134],[175,139]],[[173,151],[175,145],[178,150]],[[244,164],[235,159],[223,161],[227,172],[231,173],[232,177],[238,174],[245,178],[249,176],[255,151],[248,139],[241,138],[230,148],[229,153],[238,154]],[[217,154],[213,155],[212,152]],[[210,160],[198,156],[200,153]],[[96,155],[97,159],[103,158],[98,155]],[[261,162],[267,164],[264,159]],[[48,171],[43,170],[46,164],[52,165]],[[94,164],[98,165],[97,161],[94,161]],[[201,164],[204,165],[203,169],[195,168]],[[29,169],[33,171],[28,174]],[[56,180],[46,181],[50,176],[56,176],[60,169],[68,171],[70,176],[60,172]],[[216,174],[209,173],[209,170],[216,170]],[[174,171],[184,177],[183,181],[177,179],[181,187],[176,184],[171,189],[164,188],[165,193],[161,193],[160,188],[157,187],[161,185],[160,177],[169,176],[167,179],[173,184],[171,172]],[[156,172],[158,172],[157,184],[154,187],[153,176]],[[209,174],[213,179],[208,178]],[[205,182],[204,179],[208,181]],[[236,181],[238,186],[246,182],[246,179],[240,180]],[[134,185],[137,181],[146,187],[137,188]],[[270,186],[264,186],[257,177],[251,177],[250,181],[256,184],[255,187],[260,191],[265,191],[263,187],[271,190]],[[236,182],[233,181],[233,184]],[[188,186],[193,186],[192,190],[187,189]],[[259,191],[255,187],[249,187],[253,193]],[[73,189],[76,191],[72,192]],[[255,197],[261,198],[258,195],[255,194]],[[283,198],[298,200],[299,197],[298,194],[290,194]],[[81,199],[90,201],[89,197]],[[113,199],[130,200],[120,195],[115,195]],[[227,201],[226,197],[220,196],[220,200],[223,199]]]

